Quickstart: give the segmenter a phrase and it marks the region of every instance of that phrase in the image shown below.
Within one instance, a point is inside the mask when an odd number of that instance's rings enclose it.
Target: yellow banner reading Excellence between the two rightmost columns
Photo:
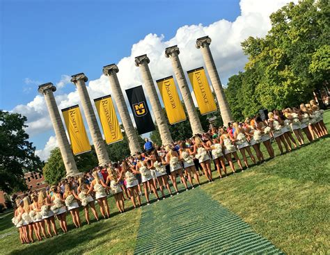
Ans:
[[[214,97],[205,75],[203,67],[188,71],[188,76],[195,93],[198,108],[202,115],[212,113],[217,110]]]

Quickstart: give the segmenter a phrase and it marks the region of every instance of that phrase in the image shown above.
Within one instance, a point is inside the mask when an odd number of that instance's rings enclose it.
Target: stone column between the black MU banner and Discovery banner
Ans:
[[[152,81],[152,76],[148,67],[148,63],[150,63],[150,60],[146,54],[135,58],[135,65],[137,67],[140,67],[141,70],[142,78],[144,81],[145,88],[147,90],[151,108],[156,118],[160,138],[162,139],[163,145],[169,145],[171,144],[171,142],[173,142],[173,139],[171,137],[170,130],[167,126],[166,117],[163,113],[162,106],[160,104],[158,94],[155,88],[155,84]]]

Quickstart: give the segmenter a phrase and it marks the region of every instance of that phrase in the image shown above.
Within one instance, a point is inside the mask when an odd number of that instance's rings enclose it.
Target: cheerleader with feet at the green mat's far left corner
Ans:
[[[139,181],[136,179],[135,174],[139,174],[135,170],[135,167],[129,166],[127,161],[122,161],[121,167],[123,169],[123,172],[125,173],[124,178],[125,178],[125,185],[128,190],[129,197],[131,198],[132,204],[134,208],[136,208],[136,201],[135,197],[139,203],[139,206],[141,206],[141,197],[139,194]]]

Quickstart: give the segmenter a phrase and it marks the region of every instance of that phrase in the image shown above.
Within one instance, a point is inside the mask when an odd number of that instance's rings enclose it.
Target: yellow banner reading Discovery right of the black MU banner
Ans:
[[[168,122],[175,124],[187,120],[173,76],[158,80],[157,85],[162,95]]]

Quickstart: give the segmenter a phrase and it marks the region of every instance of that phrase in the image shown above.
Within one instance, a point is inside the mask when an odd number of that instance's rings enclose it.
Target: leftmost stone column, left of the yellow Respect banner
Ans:
[[[61,115],[58,112],[57,104],[53,92],[56,91],[56,87],[53,83],[45,83],[39,85],[38,92],[43,94],[49,111],[50,120],[52,121],[58,147],[60,148],[63,163],[65,166],[66,176],[74,176],[79,174],[77,165],[74,161],[72,150],[66,136]]]

